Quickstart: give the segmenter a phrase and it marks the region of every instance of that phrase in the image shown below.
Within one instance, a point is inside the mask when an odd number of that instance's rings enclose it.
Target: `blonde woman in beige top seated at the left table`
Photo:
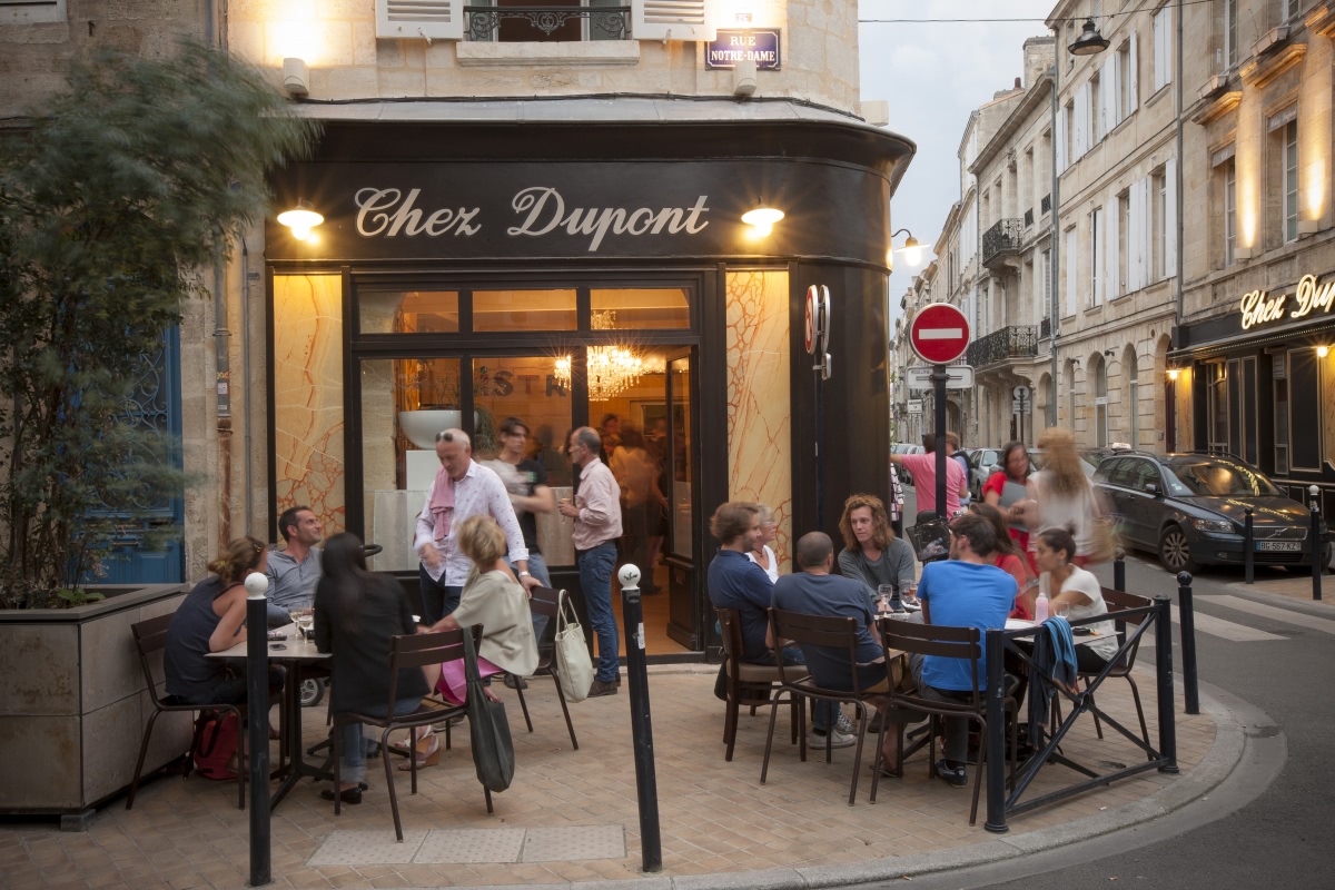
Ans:
[[[491,516],[474,515],[459,523],[455,540],[463,555],[473,560],[473,570],[463,584],[459,607],[425,632],[482,624],[478,673],[482,677],[502,671],[515,677],[531,674],[538,667],[538,640],[533,635],[529,595],[505,562],[505,532]],[[463,703],[467,687],[462,662],[425,670],[427,682],[446,701]],[[494,698],[490,690],[487,694]],[[418,767],[439,762],[441,743],[430,730],[418,731],[417,738]],[[409,770],[411,765],[405,763],[399,769]]]

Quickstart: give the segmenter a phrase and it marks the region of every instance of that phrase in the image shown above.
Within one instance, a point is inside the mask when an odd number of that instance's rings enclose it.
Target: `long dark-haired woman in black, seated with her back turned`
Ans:
[[[417,632],[409,594],[388,575],[366,568],[366,551],[356,535],[342,532],[330,538],[322,560],[315,586],[315,646],[334,655],[330,707],[387,717],[390,638]],[[427,689],[421,669],[399,671],[394,713],[415,711]],[[362,725],[346,723],[339,743],[339,797],[343,803],[360,803],[366,773]],[[326,789],[320,797],[332,801],[334,791]]]

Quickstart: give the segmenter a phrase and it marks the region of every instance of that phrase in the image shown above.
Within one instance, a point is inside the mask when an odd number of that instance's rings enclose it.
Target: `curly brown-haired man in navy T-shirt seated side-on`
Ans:
[[[766,640],[769,627],[766,610],[773,600],[774,587],[769,583],[765,570],[746,559],[746,552],[756,546],[756,539],[760,536],[760,508],[753,503],[725,503],[710,518],[709,531],[722,542],[718,555],[709,563],[709,600],[718,608],[736,608],[741,615],[744,662],[777,663],[774,650]],[[785,664],[805,663],[802,652],[794,647],[781,648],[780,654]],[[720,683],[726,683],[722,670],[718,678]],[[726,687],[716,685],[714,694],[720,695],[721,689]],[[726,691],[720,698],[726,698]],[[830,710],[825,703],[816,709],[812,718],[813,746],[825,746]],[[841,714],[838,722],[846,719]],[[857,739],[841,733],[838,722],[830,743],[834,747],[848,747]]]

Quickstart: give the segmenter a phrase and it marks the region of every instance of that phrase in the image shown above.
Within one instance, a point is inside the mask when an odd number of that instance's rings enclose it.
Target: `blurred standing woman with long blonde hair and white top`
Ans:
[[[1011,508],[1011,519],[1029,527],[1031,550],[1039,532],[1069,530],[1076,546],[1071,562],[1084,567],[1089,564],[1095,524],[1101,512],[1085,478],[1076,440],[1068,430],[1052,427],[1039,436],[1039,448],[1044,452],[1043,470],[1029,476],[1029,498]]]

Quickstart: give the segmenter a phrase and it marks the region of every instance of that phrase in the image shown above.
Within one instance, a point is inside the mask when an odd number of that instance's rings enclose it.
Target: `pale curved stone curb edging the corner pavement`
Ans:
[[[1181,689],[1181,675],[1175,675],[1176,689]],[[1243,770],[1264,769],[1272,773],[1263,777],[1260,783],[1251,783],[1251,790],[1259,794],[1279,774],[1284,757],[1256,758],[1247,757],[1248,749],[1260,741],[1284,745],[1284,738],[1279,727],[1256,706],[1235,695],[1211,686],[1202,685],[1200,690],[1202,713],[1208,714],[1215,721],[1215,741],[1206,757],[1189,771],[1179,775],[1167,787],[1163,787],[1149,797],[1119,806],[1107,813],[1088,815],[1068,825],[1041,829],[1015,837],[995,835],[995,839],[943,850],[940,853],[917,853],[892,859],[877,859],[856,865],[818,866],[810,869],[770,869],[765,871],[728,871],[712,875],[681,875],[681,877],[651,877],[646,875],[634,881],[586,881],[543,885],[543,887],[566,887],[567,890],[817,890],[821,887],[842,887],[849,885],[908,879],[920,875],[932,875],[961,869],[972,869],[983,865],[1015,861],[1021,857],[1033,857],[1060,849],[1061,863],[1071,865],[1077,861],[1072,845],[1100,842],[1099,846],[1108,846],[1109,842],[1117,845],[1117,850],[1128,850],[1137,846],[1157,842],[1176,831],[1141,831],[1135,838],[1116,838],[1111,835],[1124,834],[1128,829],[1144,827],[1147,823],[1165,819],[1165,817],[1183,810],[1191,803],[1196,803],[1208,797],[1211,791],[1223,785],[1242,765]],[[1244,759],[1247,761],[1244,763]],[[1262,761],[1267,766],[1262,766]],[[1255,794],[1246,794],[1246,799],[1236,802],[1234,807],[1212,807],[1206,818],[1184,819],[1184,822],[1204,823],[1222,818],[1238,809]],[[1169,829],[1172,826],[1168,826]],[[1187,830],[1193,825],[1187,825],[1180,830]],[[1128,833],[1129,834],[1129,833]],[[1115,850],[1109,849],[1096,855],[1107,855]],[[1093,858],[1093,857],[1087,857]],[[1060,863],[1053,863],[1059,867]],[[993,878],[996,875],[993,874]],[[494,890],[531,890],[530,885],[498,885]]]

